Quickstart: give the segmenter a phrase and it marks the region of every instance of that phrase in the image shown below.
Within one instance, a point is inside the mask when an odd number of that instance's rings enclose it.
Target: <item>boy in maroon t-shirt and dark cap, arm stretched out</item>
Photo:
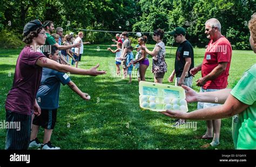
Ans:
[[[28,44],[19,54],[15,68],[14,83],[6,102],[6,122],[19,122],[19,128],[7,129],[5,149],[28,149],[30,142],[31,115],[40,115],[41,109],[36,101],[36,94],[41,82],[42,67],[59,72],[97,76],[105,71],[97,71],[99,65],[91,69],[77,69],[58,64],[45,57],[39,47],[46,40],[44,25],[33,20],[24,26],[23,41]]]

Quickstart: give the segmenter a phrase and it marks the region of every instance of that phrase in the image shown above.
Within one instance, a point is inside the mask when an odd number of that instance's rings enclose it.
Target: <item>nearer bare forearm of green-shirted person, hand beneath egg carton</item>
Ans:
[[[163,114],[185,120],[217,120],[243,112],[249,105],[229,95],[224,105],[199,109],[190,113],[166,111]]]

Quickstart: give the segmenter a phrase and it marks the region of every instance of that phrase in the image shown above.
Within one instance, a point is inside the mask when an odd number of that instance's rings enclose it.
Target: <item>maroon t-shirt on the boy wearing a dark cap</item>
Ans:
[[[37,59],[45,57],[41,52],[25,46],[17,59],[14,83],[7,95],[5,109],[18,114],[31,115],[42,78],[42,67]]]

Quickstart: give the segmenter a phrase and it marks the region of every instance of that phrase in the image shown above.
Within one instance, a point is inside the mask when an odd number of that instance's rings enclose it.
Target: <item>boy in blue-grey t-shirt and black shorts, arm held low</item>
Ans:
[[[50,52],[43,53],[49,59],[58,61],[58,52],[58,47],[51,45]],[[60,83],[62,83],[62,85],[68,85],[72,91],[76,92],[82,99],[90,99],[87,93],[80,91],[76,84],[70,80],[68,74],[44,67],[41,84],[36,95],[38,105],[41,108],[41,115],[35,116],[33,119],[29,147],[41,147],[41,149],[48,150],[60,149],[59,147],[54,147],[50,142],[52,130],[57,120]],[[44,128],[43,144],[41,144],[37,138],[40,126]]]

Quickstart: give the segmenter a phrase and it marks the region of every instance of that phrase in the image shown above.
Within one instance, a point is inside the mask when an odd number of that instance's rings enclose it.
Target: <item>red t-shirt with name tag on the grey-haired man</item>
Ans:
[[[228,62],[226,70],[217,78],[207,81],[203,86],[204,89],[224,89],[227,87],[227,78],[230,71],[230,62],[232,57],[232,47],[227,38],[220,37],[217,41],[208,43],[205,51],[205,57],[202,64],[202,77],[208,75],[218,66],[219,62]]]

